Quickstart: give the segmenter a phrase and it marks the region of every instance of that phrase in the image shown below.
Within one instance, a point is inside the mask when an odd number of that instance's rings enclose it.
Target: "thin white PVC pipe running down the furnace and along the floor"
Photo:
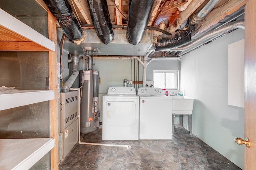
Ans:
[[[99,146],[109,146],[109,147],[126,147],[126,149],[131,149],[130,145],[115,145],[106,143],[88,143],[81,142],[81,127],[80,127],[80,88],[70,88],[70,90],[78,90],[78,143],[84,145],[99,145]]]

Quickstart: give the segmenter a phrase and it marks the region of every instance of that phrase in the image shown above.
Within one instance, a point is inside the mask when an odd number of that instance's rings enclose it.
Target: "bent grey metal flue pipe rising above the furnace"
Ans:
[[[62,87],[62,92],[69,92],[71,86],[73,85],[74,81],[76,80],[77,76],[79,75],[78,72],[78,63],[79,58],[78,55],[72,55],[72,62],[73,62],[73,68],[72,68],[72,75],[68,78],[64,86]]]

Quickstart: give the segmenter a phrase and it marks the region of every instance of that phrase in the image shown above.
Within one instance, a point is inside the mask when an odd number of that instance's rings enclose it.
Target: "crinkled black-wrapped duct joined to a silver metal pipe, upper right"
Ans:
[[[160,35],[157,37],[156,51],[168,51],[174,47],[191,41],[191,36],[199,23],[214,8],[220,0],[210,0],[198,13],[188,20],[185,30],[176,31],[172,35]]]

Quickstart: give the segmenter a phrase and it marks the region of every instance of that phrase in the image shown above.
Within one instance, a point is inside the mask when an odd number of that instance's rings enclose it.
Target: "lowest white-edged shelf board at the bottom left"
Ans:
[[[0,139],[0,169],[29,169],[53,147],[52,138]]]

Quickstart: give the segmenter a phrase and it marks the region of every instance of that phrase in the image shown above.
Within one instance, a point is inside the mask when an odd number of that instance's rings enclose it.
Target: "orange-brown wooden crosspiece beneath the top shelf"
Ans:
[[[34,42],[0,41],[0,51],[50,51]]]

